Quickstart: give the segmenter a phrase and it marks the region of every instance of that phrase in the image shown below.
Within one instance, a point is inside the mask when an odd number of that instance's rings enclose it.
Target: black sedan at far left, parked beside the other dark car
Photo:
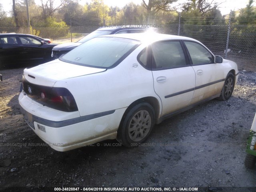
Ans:
[[[48,62],[56,45],[30,34],[0,34],[0,68]]]

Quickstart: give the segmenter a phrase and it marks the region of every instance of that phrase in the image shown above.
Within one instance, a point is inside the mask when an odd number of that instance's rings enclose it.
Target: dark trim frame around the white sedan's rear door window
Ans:
[[[153,62],[155,62],[155,61],[154,61],[154,56],[153,56],[153,52],[152,52],[152,45],[153,45],[153,44],[156,44],[156,43],[161,43],[161,42],[174,42],[174,41],[180,42],[180,46],[181,46],[181,48],[182,48],[182,50],[183,50],[183,53],[184,53],[184,56],[185,56],[186,65],[177,66],[177,67],[160,68],[160,69],[153,68],[153,66],[154,66],[154,63],[153,63]],[[182,40],[180,40],[180,39],[157,41],[157,42],[154,42],[154,43],[150,44],[150,48],[151,48],[151,57],[152,57],[152,58],[151,58],[151,62],[152,62],[152,64],[151,64],[151,70],[152,70],[152,71],[168,70],[168,69],[183,68],[183,67],[191,66],[191,65],[190,65],[190,62],[189,62],[189,59],[188,59],[188,56],[186,55],[186,52],[185,52],[185,50],[184,50],[184,45],[182,44]]]

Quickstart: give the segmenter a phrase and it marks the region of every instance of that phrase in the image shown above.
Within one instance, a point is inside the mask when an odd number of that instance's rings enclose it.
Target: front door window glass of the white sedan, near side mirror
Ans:
[[[214,63],[214,57],[204,46],[191,41],[184,41],[184,43],[188,48],[193,65]]]

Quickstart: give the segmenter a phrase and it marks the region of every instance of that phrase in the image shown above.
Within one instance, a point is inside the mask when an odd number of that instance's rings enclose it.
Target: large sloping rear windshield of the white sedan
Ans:
[[[88,67],[112,68],[139,44],[137,40],[126,38],[97,37],[74,48],[60,57],[60,60]]]

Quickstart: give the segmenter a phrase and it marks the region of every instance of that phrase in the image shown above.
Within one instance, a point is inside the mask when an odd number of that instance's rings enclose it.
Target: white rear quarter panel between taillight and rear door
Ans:
[[[140,50],[142,48],[138,47],[112,69],[61,80],[54,86],[70,90],[80,116],[126,108],[132,102],[147,96],[157,98],[160,103],[160,98],[154,92],[152,72],[143,68],[137,61]],[[137,67],[134,67],[134,64],[137,64]]]

